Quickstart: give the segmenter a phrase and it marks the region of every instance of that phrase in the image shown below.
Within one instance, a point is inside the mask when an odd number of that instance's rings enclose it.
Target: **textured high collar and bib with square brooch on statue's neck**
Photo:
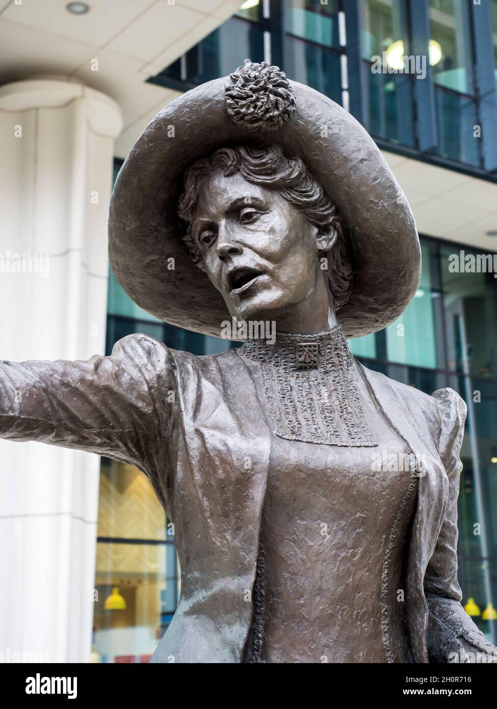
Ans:
[[[364,420],[341,325],[318,335],[278,333],[274,344],[246,340],[237,350],[257,362],[273,432],[286,440],[378,445]]]

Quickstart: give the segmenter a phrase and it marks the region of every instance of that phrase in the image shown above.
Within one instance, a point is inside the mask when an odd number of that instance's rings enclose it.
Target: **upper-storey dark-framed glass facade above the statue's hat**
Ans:
[[[150,81],[186,90],[246,57],[266,60],[345,106],[381,145],[497,180],[496,7],[496,0],[259,2]]]

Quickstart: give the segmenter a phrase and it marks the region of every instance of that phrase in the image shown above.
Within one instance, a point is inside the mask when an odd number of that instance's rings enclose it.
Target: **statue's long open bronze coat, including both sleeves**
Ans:
[[[475,652],[495,652],[464,612],[457,583],[466,405],[452,389],[428,396],[364,372],[393,426],[425,461],[406,549],[411,657],[451,661],[464,641]],[[242,661],[271,445],[254,376],[234,350],[197,357],[146,335],[124,337],[109,357],[0,364],[0,437],[133,464],[174,523],[182,589],[154,662]]]

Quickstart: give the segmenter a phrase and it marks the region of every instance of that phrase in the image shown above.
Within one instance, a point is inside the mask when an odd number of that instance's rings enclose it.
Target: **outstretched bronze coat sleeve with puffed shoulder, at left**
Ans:
[[[174,391],[172,357],[147,335],[128,335],[108,357],[0,362],[0,437],[77,448],[147,475],[164,447]]]

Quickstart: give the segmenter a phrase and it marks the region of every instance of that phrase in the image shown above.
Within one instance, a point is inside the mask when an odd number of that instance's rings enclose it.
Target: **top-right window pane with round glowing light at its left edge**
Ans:
[[[433,81],[447,89],[472,94],[469,3],[464,0],[429,0],[429,8]]]

